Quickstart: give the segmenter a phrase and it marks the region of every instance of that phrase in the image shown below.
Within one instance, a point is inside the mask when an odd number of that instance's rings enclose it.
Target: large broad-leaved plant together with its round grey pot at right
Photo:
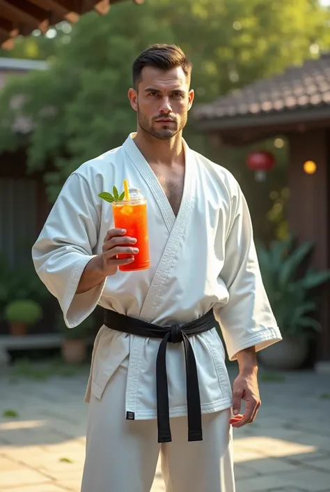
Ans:
[[[313,243],[298,247],[294,237],[274,241],[267,249],[258,247],[262,279],[283,341],[258,352],[263,366],[292,370],[303,364],[308,345],[320,331],[315,318],[318,308],[317,288],[330,279],[330,271],[308,268]]]

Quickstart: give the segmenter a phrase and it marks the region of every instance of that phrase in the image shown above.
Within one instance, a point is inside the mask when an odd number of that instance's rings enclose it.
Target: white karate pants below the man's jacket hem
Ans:
[[[81,492],[150,492],[159,452],[166,492],[235,492],[230,410],[203,415],[203,441],[188,442],[187,417],[171,418],[172,442],[157,442],[157,420],[125,419],[127,369],[102,399],[92,395]]]

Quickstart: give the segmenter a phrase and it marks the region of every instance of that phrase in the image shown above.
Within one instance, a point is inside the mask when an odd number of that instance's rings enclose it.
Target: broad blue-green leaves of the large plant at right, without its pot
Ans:
[[[320,331],[315,319],[318,307],[317,288],[330,279],[330,270],[314,271],[308,267],[313,243],[295,246],[294,237],[274,241],[270,248],[258,246],[262,280],[283,336],[312,336]]]

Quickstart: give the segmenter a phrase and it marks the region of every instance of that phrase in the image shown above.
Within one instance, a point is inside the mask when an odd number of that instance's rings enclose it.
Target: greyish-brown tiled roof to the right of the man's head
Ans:
[[[228,120],[324,105],[330,107],[330,53],[290,67],[282,75],[253,82],[213,103],[196,105],[194,118]]]

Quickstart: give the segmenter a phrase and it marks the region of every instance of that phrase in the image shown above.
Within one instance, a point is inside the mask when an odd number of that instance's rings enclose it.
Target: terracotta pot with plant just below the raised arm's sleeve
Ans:
[[[77,327],[68,328],[63,320],[63,314],[60,314],[56,325],[63,336],[61,353],[64,361],[68,364],[82,364],[86,359],[86,339],[94,325],[93,316],[88,316]]]

